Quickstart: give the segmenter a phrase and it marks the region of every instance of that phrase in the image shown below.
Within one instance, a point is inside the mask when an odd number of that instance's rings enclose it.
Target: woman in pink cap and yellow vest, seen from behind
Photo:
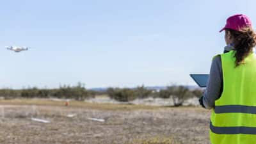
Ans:
[[[200,98],[204,108],[212,109],[210,140],[212,144],[255,144],[256,34],[246,15],[229,17],[223,30],[228,46],[213,58],[207,90]]]

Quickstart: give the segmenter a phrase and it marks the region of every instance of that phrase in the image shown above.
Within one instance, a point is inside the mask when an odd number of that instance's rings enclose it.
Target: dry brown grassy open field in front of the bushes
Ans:
[[[42,99],[0,100],[0,143],[139,144],[148,138],[167,138],[173,144],[209,143],[210,111],[202,108],[76,101],[65,107],[63,103]],[[68,114],[75,116],[70,118]],[[34,122],[31,117],[51,123]]]

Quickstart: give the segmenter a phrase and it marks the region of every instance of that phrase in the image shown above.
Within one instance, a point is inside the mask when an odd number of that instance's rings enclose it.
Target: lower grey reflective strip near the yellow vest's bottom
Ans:
[[[216,134],[256,134],[256,127],[214,127],[210,123],[210,129]]]

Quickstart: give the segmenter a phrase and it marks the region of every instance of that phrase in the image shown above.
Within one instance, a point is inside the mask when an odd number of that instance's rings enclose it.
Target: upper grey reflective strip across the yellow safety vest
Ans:
[[[215,106],[215,113],[251,113],[256,114],[256,106],[227,105]]]

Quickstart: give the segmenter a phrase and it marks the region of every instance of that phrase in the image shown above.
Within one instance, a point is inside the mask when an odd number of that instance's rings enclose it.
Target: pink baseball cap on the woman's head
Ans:
[[[243,28],[250,27],[252,28],[252,21],[246,15],[233,15],[228,17],[226,26],[220,30],[233,29],[236,31],[242,31]]]

